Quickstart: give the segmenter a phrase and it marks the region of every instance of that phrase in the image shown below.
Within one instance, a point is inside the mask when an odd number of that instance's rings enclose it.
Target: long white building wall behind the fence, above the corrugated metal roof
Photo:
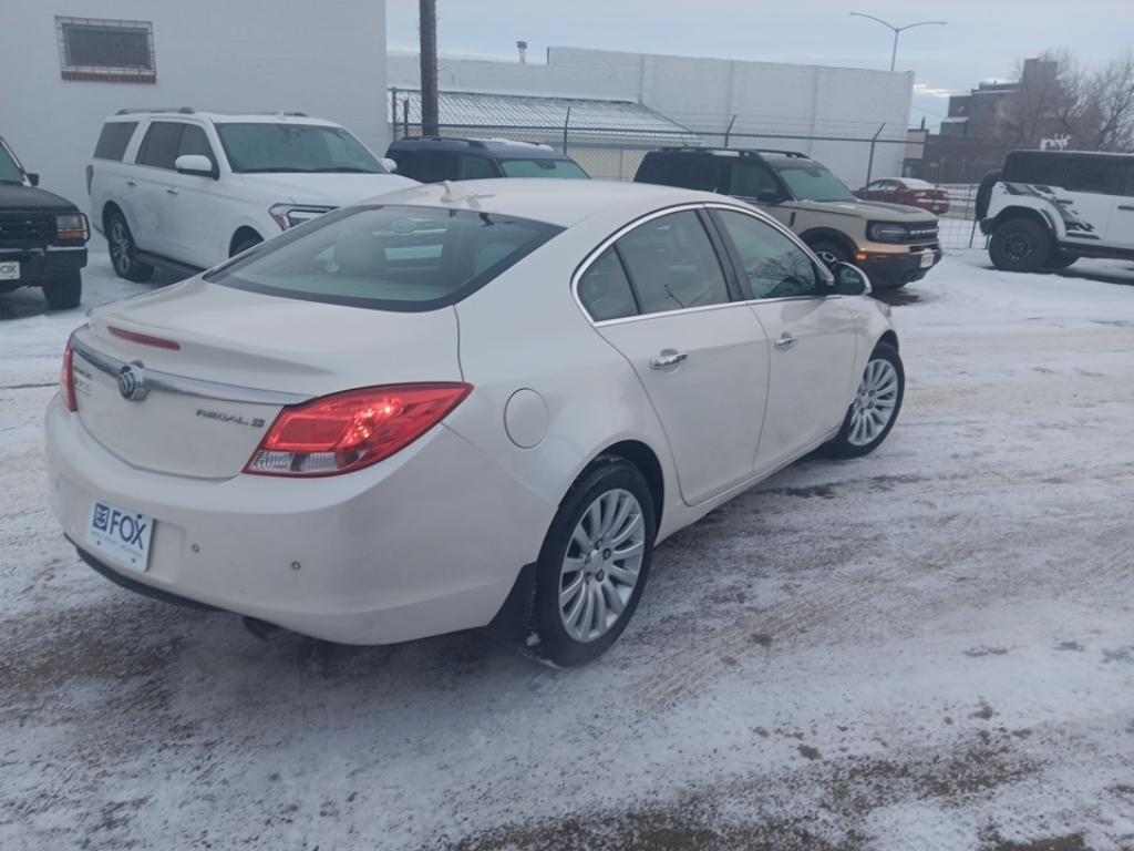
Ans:
[[[417,89],[418,59],[391,53],[389,84]],[[734,133],[905,140],[914,75],[909,71],[750,62],[581,48],[550,48],[547,64],[452,59],[438,62],[442,90],[637,101],[720,144]],[[734,148],[801,150],[824,162],[853,187],[866,177],[868,142],[745,138]],[[904,145],[879,144],[874,176],[902,174]]]

